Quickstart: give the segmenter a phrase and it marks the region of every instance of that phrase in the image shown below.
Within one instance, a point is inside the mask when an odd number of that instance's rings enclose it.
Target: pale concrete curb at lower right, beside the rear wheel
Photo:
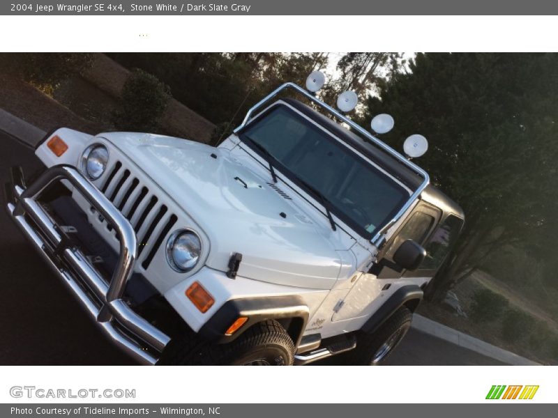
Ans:
[[[412,327],[415,330],[424,332],[425,334],[435,336],[439,339],[453,343],[456,346],[467,348],[467,350],[472,350],[475,353],[497,359],[506,364],[511,364],[513,366],[540,366],[539,363],[511,353],[511,351],[504,350],[503,348],[492,346],[492,344],[485,343],[485,341],[476,339],[473,336],[464,334],[463,332],[453,330],[453,328],[446,327],[446,325],[437,323],[434,320],[425,318],[424,316],[415,314],[413,316]]]

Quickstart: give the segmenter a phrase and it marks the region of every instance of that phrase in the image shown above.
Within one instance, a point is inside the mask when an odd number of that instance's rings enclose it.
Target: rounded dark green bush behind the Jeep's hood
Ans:
[[[122,89],[122,106],[114,124],[120,130],[153,132],[169,101],[170,91],[157,77],[135,69]]]

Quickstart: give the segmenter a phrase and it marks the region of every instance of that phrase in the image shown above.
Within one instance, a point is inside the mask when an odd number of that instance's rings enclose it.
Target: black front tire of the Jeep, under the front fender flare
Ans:
[[[285,328],[266,320],[226,344],[204,343],[190,333],[169,345],[158,364],[289,366],[294,362],[294,351]]]

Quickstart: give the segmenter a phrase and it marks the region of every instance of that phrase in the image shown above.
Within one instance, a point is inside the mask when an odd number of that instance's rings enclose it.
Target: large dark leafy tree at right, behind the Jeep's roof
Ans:
[[[394,116],[382,139],[395,148],[412,133],[429,139],[418,163],[467,216],[428,297],[445,295],[504,245],[555,259],[558,54],[418,54],[366,107],[363,123]]]

